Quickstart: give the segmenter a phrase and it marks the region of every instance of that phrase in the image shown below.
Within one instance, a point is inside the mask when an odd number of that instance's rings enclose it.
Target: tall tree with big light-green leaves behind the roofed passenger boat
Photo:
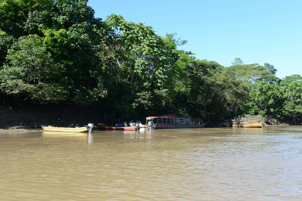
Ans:
[[[124,114],[153,107],[153,97],[168,88],[178,59],[152,27],[111,15],[104,21],[105,51],[100,52],[108,98]]]

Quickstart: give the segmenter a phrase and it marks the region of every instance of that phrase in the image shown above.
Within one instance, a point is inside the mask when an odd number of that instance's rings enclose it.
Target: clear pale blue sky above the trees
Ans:
[[[274,65],[279,78],[302,75],[300,0],[89,0],[89,5],[103,20],[117,14],[161,36],[177,33],[188,40],[181,49],[198,59],[230,66],[239,57],[246,64]]]

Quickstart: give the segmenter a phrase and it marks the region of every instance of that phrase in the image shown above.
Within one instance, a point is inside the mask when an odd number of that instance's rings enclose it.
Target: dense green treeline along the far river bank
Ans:
[[[111,15],[85,0],[3,0],[0,99],[102,104],[121,118],[163,115],[223,121],[242,114],[299,120],[302,77],[273,65],[230,67],[181,50],[186,41]]]

